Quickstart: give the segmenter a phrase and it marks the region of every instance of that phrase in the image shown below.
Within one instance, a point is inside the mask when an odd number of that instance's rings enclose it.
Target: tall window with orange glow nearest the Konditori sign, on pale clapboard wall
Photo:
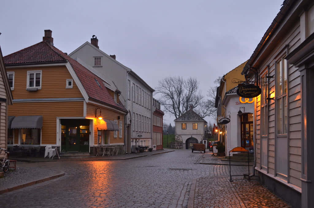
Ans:
[[[267,73],[266,73],[267,74]],[[267,86],[267,78],[266,74],[261,78],[261,129],[262,135],[267,135],[267,124],[268,124],[268,112],[267,112],[267,94],[268,94],[268,86]]]

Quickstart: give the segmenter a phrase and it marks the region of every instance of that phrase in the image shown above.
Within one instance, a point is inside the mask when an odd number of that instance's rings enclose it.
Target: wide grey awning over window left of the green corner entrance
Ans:
[[[41,129],[42,116],[17,116],[11,123],[11,129]]]

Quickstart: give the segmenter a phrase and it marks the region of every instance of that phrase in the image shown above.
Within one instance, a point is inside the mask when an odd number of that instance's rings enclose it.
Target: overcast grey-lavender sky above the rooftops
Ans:
[[[205,98],[214,80],[250,58],[283,0],[2,1],[3,56],[42,41],[73,52],[92,35],[155,88],[167,76],[196,77]],[[159,95],[154,96],[158,99]],[[174,124],[165,114],[164,123]],[[213,118],[205,118],[214,122]]]

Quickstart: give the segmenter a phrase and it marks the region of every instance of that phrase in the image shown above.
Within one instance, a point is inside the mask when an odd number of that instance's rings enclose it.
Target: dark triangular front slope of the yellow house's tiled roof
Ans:
[[[3,57],[4,63],[22,64],[22,63],[45,63],[45,62],[66,62],[67,60],[57,52],[51,50],[48,43],[41,41],[30,47]]]

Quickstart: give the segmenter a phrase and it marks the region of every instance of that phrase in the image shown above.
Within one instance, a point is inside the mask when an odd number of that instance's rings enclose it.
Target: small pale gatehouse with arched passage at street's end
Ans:
[[[188,110],[174,120],[176,141],[182,141],[185,149],[191,149],[193,143],[201,143],[205,135],[207,122],[196,112]]]

